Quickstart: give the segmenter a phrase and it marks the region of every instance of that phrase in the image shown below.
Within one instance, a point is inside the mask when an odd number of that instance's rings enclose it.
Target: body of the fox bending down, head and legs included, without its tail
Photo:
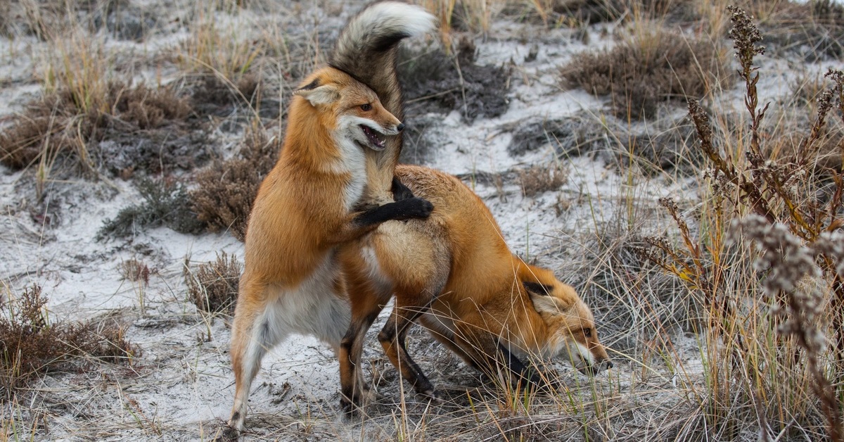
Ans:
[[[352,308],[340,347],[347,412],[367,396],[360,371],[363,338],[393,293],[395,308],[378,340],[419,393],[436,396],[405,348],[414,320],[493,377],[503,367],[544,386],[545,379],[519,360],[527,355],[565,355],[591,374],[612,367],[586,303],[551,271],[511,254],[490,210],[465,184],[427,167],[398,166],[395,172],[434,211],[425,221],[385,222],[341,250]]]

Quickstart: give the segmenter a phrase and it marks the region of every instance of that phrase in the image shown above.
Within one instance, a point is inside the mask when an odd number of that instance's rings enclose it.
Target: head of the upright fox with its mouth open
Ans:
[[[341,139],[371,150],[384,150],[385,135],[396,135],[404,124],[388,112],[369,86],[335,68],[311,74],[295,95],[304,98],[323,126]]]

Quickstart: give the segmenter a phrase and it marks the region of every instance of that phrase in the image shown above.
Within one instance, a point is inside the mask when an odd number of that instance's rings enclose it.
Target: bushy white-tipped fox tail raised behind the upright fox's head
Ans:
[[[372,3],[349,20],[328,64],[369,86],[387,111],[403,120],[402,90],[396,74],[398,43],[435,28],[436,18],[419,6],[401,2]],[[382,157],[394,166],[402,141],[400,136],[389,138],[386,155]]]

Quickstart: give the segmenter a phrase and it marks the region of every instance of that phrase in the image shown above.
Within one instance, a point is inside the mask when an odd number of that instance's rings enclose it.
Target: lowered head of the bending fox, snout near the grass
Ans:
[[[548,274],[551,272],[546,270]],[[533,276],[546,276],[533,272]],[[598,341],[592,311],[575,289],[552,275],[542,281],[522,281],[533,308],[543,319],[549,336],[545,348],[549,356],[565,356],[583,374],[598,374],[612,368],[606,348]]]

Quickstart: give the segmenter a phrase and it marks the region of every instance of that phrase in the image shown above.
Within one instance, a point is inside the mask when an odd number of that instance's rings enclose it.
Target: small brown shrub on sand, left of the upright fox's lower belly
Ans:
[[[189,259],[185,259],[182,275],[187,286],[187,298],[200,311],[215,314],[232,314],[237,301],[237,285],[241,280],[243,266],[235,255],[225,252],[217,255],[217,260],[200,264],[196,270],[190,268]]]

